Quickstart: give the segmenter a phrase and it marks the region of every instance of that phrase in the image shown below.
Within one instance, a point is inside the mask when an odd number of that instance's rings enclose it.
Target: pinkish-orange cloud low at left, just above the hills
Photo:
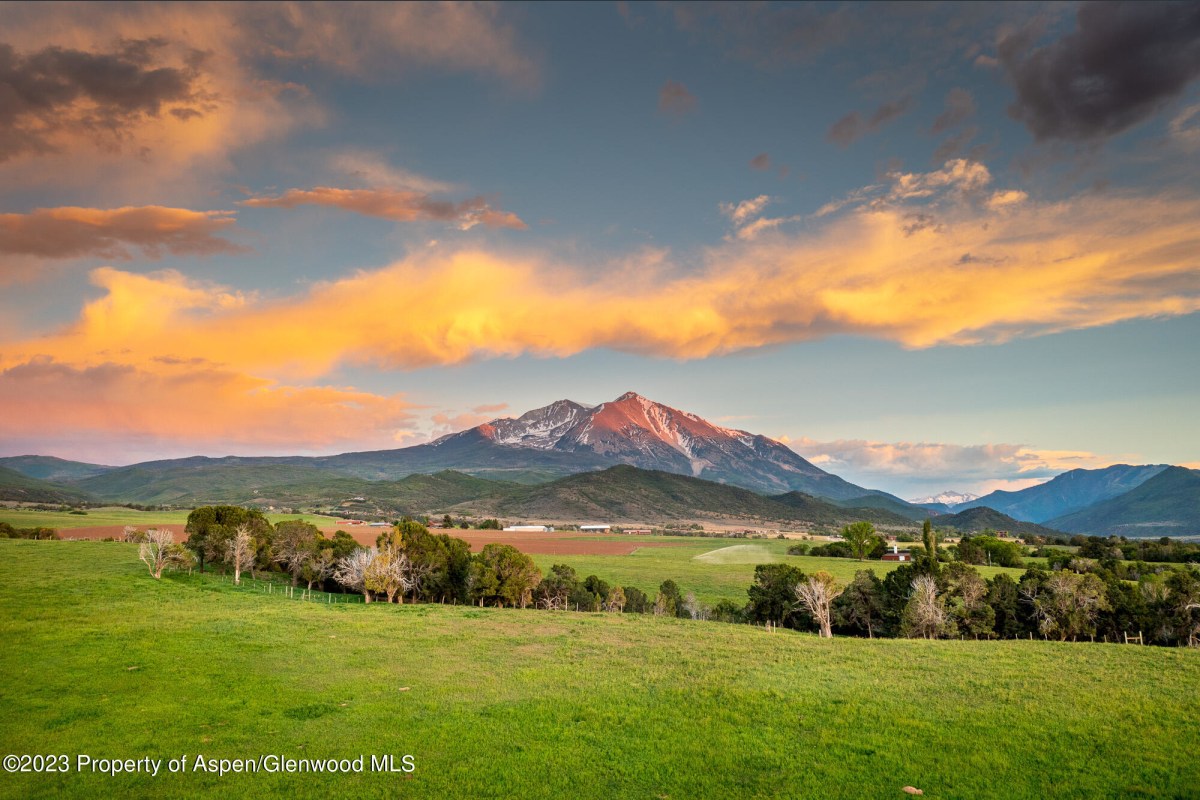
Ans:
[[[377,449],[412,433],[409,408],[398,396],[280,385],[192,361],[142,369],[35,359],[0,371],[0,439],[52,449],[80,438],[90,446],[107,439],[110,453],[145,440],[206,450]]]

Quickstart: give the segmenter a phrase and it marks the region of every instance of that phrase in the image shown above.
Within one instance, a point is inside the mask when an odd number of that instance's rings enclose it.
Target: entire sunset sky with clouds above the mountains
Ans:
[[[0,456],[636,391],[917,498],[1200,467],[1196,4],[0,4]]]

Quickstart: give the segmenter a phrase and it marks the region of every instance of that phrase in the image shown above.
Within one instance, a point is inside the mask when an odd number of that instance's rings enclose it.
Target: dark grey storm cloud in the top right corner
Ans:
[[[1200,77],[1200,4],[1090,2],[1058,41],[1030,49],[1014,34],[998,52],[1016,88],[1009,114],[1034,138],[1110,137]]]

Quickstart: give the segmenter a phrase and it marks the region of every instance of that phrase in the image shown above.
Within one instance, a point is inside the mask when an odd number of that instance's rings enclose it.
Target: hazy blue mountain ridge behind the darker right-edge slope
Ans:
[[[1166,468],[1166,464],[1115,464],[1105,469],[1073,469],[1020,492],[992,492],[962,504],[958,511],[988,506],[1026,522],[1045,522],[1124,494]]]

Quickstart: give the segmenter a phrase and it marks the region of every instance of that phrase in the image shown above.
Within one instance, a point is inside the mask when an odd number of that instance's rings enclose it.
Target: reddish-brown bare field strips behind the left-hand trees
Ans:
[[[167,529],[175,534],[175,541],[184,541],[185,534],[182,524],[156,525],[160,530]],[[334,535],[337,530],[344,530],[354,541],[360,545],[374,545],[376,539],[386,528],[367,528],[359,525],[325,527],[320,529],[326,536]],[[479,552],[484,545],[493,542],[500,545],[512,545],[517,549],[538,555],[629,555],[638,547],[679,547],[688,542],[644,542],[644,541],[605,541],[587,539],[575,531],[563,531],[558,534],[521,534],[503,530],[438,530],[432,533],[446,533],[451,536],[466,540],[470,549]],[[125,525],[95,525],[92,528],[72,528],[60,530],[62,539],[120,539],[125,534]]]

